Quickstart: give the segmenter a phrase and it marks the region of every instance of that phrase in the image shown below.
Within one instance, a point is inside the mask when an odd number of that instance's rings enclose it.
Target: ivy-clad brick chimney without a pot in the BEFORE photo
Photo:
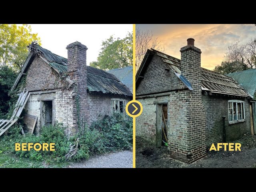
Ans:
[[[89,117],[89,108],[87,101],[87,66],[86,66],[86,50],[85,45],[80,42],[69,44],[68,50],[68,72],[71,80],[75,82],[75,96],[73,98],[73,124],[74,128],[78,128],[79,123],[85,123]],[[78,100],[76,99],[78,98]],[[77,102],[79,108],[77,109]],[[79,118],[79,121],[78,121]]]

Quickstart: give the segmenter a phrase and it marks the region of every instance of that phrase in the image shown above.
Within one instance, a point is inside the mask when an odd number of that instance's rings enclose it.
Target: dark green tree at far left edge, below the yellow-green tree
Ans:
[[[9,66],[0,66],[0,119],[6,119],[11,97],[8,95],[17,73]]]

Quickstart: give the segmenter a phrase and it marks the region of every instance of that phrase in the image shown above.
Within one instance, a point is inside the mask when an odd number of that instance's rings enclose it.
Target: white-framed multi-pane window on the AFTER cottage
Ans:
[[[244,102],[240,100],[228,101],[228,122],[240,122],[244,120]]]

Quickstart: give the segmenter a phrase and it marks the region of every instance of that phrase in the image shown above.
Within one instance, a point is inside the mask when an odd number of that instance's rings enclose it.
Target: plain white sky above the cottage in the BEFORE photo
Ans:
[[[54,54],[68,57],[66,46],[78,41],[87,46],[86,64],[96,61],[103,40],[111,35],[124,38],[132,32],[132,24],[29,24],[38,33],[42,47]]]

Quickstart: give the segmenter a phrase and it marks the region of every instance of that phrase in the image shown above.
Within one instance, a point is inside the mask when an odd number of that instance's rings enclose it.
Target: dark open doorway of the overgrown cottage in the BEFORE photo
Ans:
[[[41,126],[52,125],[52,101],[42,101]]]

